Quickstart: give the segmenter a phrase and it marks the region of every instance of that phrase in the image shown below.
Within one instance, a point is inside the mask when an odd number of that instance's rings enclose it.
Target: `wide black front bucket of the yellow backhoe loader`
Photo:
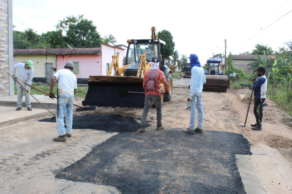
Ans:
[[[89,76],[88,90],[82,105],[105,107],[144,107],[143,78],[133,76]]]

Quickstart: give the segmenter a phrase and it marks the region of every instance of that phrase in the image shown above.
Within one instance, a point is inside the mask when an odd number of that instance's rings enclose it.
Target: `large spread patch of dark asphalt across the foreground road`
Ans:
[[[181,129],[119,133],[56,178],[115,186],[122,193],[245,193],[235,154],[251,154],[240,134]]]

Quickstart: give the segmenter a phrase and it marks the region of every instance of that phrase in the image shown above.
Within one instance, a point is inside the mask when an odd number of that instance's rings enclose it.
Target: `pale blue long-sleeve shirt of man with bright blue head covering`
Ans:
[[[196,92],[202,92],[205,83],[206,77],[203,67],[193,66],[191,70],[189,95],[193,96]]]

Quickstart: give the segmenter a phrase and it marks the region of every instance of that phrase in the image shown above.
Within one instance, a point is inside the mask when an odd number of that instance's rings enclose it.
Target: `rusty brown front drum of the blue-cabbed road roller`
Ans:
[[[229,88],[230,81],[227,75],[205,75],[206,83],[203,86],[203,91],[209,92],[226,92]]]

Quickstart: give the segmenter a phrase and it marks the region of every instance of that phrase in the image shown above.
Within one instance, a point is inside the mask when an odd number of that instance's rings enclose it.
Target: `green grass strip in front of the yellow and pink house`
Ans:
[[[41,83],[41,82],[33,82],[32,83],[32,86],[44,91],[44,92],[47,92],[49,93],[50,92],[50,85],[49,84],[44,84],[44,83]],[[57,95],[57,87],[58,87],[58,83],[55,84],[54,86],[54,94]],[[83,97],[85,98],[85,95],[86,95],[86,92],[87,92],[87,89],[88,89],[88,86],[78,86],[77,87],[77,91],[76,91],[76,94],[75,96],[76,97]],[[30,88],[30,93],[31,94],[36,94],[36,95],[43,95],[42,92],[39,92],[37,91],[36,89],[33,89],[33,88]],[[17,88],[16,88],[16,84],[14,85],[14,94],[17,95]]]

